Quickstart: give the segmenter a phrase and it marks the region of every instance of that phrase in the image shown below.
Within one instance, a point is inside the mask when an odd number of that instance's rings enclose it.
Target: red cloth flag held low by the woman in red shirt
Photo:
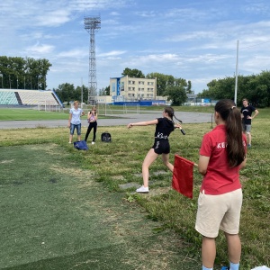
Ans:
[[[193,166],[192,161],[175,155],[172,187],[191,199],[193,199]]]

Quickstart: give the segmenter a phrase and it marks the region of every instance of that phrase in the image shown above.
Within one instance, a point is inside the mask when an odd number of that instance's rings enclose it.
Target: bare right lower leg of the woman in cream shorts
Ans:
[[[238,264],[241,257],[241,241],[238,234],[229,234],[224,232],[227,244],[229,261],[233,264]]]

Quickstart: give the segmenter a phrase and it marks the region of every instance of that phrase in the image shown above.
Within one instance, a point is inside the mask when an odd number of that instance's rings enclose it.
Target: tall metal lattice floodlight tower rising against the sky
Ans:
[[[95,65],[95,41],[94,33],[100,29],[100,16],[85,17],[85,30],[90,33],[89,49],[89,75],[88,75],[88,103],[95,104],[96,96],[96,65]]]

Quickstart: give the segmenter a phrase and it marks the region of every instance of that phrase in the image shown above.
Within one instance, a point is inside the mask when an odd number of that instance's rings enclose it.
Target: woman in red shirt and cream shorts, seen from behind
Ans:
[[[217,126],[202,139],[199,173],[203,175],[195,229],[202,234],[202,270],[212,270],[215,238],[223,230],[229,254],[229,270],[238,270],[241,242],[238,236],[242,189],[239,170],[246,165],[247,138],[241,113],[229,99],[215,105]]]

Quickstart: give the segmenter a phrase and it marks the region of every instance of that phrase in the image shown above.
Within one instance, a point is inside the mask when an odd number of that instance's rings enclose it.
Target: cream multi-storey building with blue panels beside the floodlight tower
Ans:
[[[157,78],[111,77],[110,95],[113,102],[139,102],[157,99]]]

